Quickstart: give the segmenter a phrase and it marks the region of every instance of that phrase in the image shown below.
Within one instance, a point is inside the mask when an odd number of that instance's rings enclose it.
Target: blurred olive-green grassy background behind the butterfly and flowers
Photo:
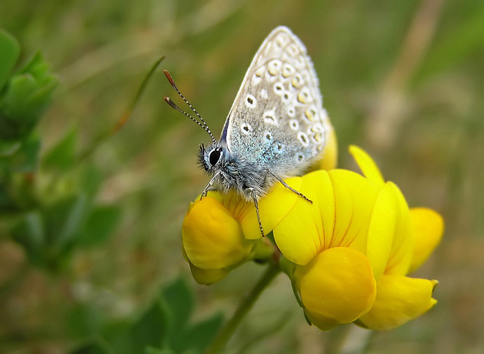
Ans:
[[[281,24],[304,41],[315,63],[339,140],[339,167],[355,169],[346,149],[360,145],[409,205],[445,218],[442,244],[416,274],[440,281],[438,305],[402,328],[375,333],[367,352],[482,353],[482,1],[0,2],[0,27],[19,40],[21,62],[42,50],[59,75],[38,128],[41,154],[73,130],[77,151],[89,149],[161,55],[162,68],[218,135],[252,56]],[[3,353],[64,353],[86,333],[136,317],[178,274],[196,292],[196,317],[230,315],[260,274],[261,267],[246,264],[211,287],[189,279],[180,225],[207,183],[196,153],[208,140],[163,102],[165,95],[178,102],[158,70],[131,120],[89,158],[102,179],[97,202],[122,211],[109,239],[76,249],[52,274],[29,265],[0,229]],[[39,171],[37,188],[50,177]],[[75,171],[57,178],[57,188],[69,190]],[[281,276],[228,353],[322,353],[340,335],[308,327]]]

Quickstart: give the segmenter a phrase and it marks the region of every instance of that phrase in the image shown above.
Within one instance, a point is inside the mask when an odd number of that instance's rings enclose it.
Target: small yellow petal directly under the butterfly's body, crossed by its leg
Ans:
[[[287,178],[286,183],[299,191],[301,189],[301,177]],[[295,192],[290,191],[281,183],[277,182],[267,196],[259,201],[259,215],[265,234],[268,234],[288,214],[296,201],[301,198]],[[257,221],[257,214],[253,202],[247,203],[247,208],[236,216],[241,223],[243,234],[246,239],[260,239],[261,231]]]

